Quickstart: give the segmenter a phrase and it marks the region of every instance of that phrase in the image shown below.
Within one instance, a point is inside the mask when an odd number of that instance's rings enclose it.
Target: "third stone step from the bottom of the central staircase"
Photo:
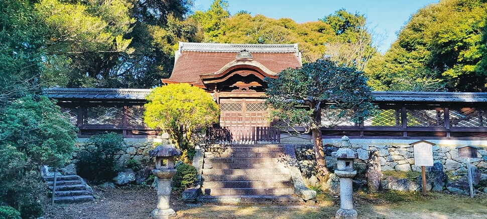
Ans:
[[[294,188],[290,180],[276,181],[205,181],[204,188]]]

